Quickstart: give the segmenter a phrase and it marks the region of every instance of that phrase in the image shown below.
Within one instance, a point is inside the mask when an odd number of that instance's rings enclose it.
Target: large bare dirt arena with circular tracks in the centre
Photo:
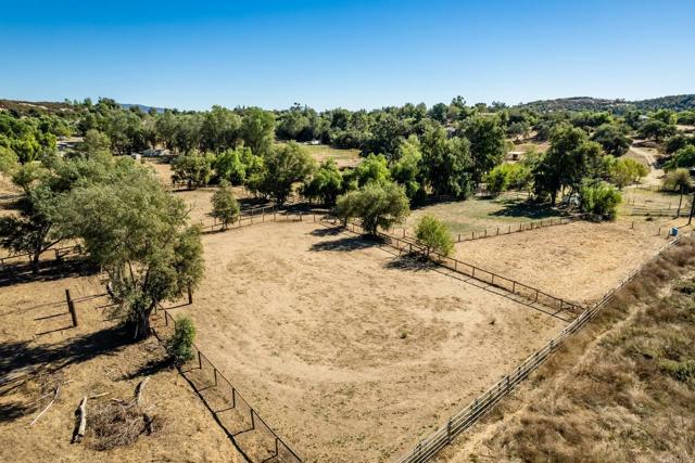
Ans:
[[[306,462],[397,456],[564,326],[313,222],[204,248],[194,304],[172,312]]]

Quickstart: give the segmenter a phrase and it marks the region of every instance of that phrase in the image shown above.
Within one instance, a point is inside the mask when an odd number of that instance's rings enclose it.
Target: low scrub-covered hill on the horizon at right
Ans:
[[[530,103],[522,103],[517,107],[528,107],[531,110],[547,111],[611,111],[621,112],[634,107],[642,111],[654,110],[693,110],[695,108],[695,94],[679,94],[660,97],[649,100],[607,100],[592,97],[560,98],[556,100],[539,100]]]

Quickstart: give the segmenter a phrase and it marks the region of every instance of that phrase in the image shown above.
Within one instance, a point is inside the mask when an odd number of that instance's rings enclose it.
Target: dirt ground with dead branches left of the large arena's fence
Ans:
[[[103,292],[94,279],[73,278],[0,287],[0,461],[4,462],[242,462],[200,399],[176,370],[162,368],[162,347],[154,338],[130,345],[115,329],[106,298],[76,304],[79,326],[71,326],[64,290],[73,298]],[[43,333],[43,334],[41,334]],[[48,404],[39,377],[14,380],[48,362],[64,365],[50,377],[63,382],[54,404]],[[161,429],[141,435],[127,447],[91,448],[89,413],[111,399],[129,400],[147,375],[144,408]],[[52,394],[53,388],[49,390]],[[71,445],[74,411],[85,395],[88,435]]]

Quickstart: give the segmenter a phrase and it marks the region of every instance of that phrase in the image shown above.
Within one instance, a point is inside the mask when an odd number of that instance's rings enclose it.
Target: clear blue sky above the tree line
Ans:
[[[695,93],[694,0],[0,0],[0,98],[181,110]]]

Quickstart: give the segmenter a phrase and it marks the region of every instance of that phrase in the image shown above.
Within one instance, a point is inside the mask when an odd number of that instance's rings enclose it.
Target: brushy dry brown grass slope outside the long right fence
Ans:
[[[693,461],[694,250],[685,240],[650,263],[435,461]]]

